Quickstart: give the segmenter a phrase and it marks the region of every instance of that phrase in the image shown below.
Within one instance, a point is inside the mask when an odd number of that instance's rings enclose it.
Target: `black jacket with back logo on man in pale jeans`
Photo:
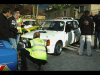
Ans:
[[[93,35],[94,24],[89,16],[82,16],[79,20],[81,35]]]

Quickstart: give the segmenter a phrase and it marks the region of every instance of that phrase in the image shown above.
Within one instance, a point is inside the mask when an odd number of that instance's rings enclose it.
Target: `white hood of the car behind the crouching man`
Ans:
[[[60,34],[62,31],[36,30],[36,31],[31,31],[31,32],[25,33],[21,37],[32,39],[35,32],[40,33],[41,39],[50,39],[50,38]]]

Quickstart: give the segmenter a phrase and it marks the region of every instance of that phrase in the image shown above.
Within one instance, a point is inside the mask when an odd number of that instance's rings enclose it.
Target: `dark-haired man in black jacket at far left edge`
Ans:
[[[9,41],[9,23],[7,17],[10,15],[9,8],[3,8],[0,14],[0,40]]]

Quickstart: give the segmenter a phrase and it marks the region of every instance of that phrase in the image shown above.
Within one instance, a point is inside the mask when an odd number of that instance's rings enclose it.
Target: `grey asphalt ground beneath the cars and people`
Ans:
[[[98,43],[97,43],[98,44]],[[91,47],[94,45],[92,36]],[[100,71],[100,53],[92,49],[92,56],[87,56],[87,50],[78,56],[79,44],[72,44],[62,50],[61,55],[47,54],[48,63],[43,71]],[[28,71],[38,71],[38,66],[27,59]]]

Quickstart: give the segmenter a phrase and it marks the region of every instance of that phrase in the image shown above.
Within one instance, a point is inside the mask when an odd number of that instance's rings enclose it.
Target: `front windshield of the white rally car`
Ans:
[[[55,30],[55,31],[63,31],[64,30],[64,21],[45,21],[42,23],[42,29],[46,30]]]

